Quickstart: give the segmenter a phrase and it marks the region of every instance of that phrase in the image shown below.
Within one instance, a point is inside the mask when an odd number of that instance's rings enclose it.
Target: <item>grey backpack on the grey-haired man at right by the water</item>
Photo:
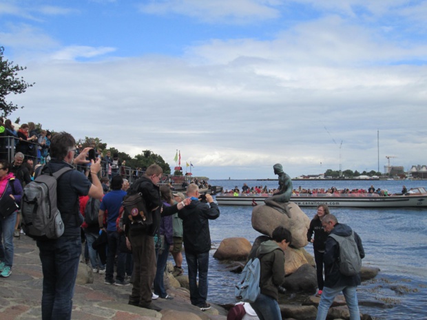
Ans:
[[[362,259],[360,258],[353,231],[351,231],[351,235],[348,237],[342,237],[333,233],[329,237],[335,239],[340,245],[340,273],[346,276],[360,273]]]

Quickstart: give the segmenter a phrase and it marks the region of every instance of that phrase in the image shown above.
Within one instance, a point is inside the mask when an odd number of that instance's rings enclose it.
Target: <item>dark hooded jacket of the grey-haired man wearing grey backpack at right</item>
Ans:
[[[331,233],[340,235],[341,237],[350,237],[352,230],[350,226],[347,226],[346,224],[335,224]],[[365,257],[365,251],[362,246],[362,240],[357,233],[354,233],[354,237],[360,258],[363,259]],[[323,256],[325,270],[324,286],[328,288],[335,288],[340,286],[360,285],[360,274],[346,276],[340,273],[339,257],[340,245],[335,241],[335,239],[333,239],[333,237],[328,237],[328,239],[326,239],[326,249]]]

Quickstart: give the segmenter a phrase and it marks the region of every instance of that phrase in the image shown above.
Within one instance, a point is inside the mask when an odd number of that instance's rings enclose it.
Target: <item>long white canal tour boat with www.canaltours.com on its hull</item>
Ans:
[[[264,204],[266,198],[271,194],[240,194],[220,193],[216,195],[216,202],[220,206],[257,206]],[[427,208],[427,191],[419,187],[414,188],[406,195],[391,195],[381,197],[377,194],[369,193],[344,193],[327,195],[326,193],[317,193],[309,195],[301,193],[291,197],[291,202],[298,206],[318,206],[327,204],[335,207],[354,207],[354,208]]]

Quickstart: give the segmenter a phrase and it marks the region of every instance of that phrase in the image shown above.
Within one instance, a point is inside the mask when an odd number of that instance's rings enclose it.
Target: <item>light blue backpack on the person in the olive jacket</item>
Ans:
[[[260,259],[254,258],[244,266],[234,295],[244,302],[255,302],[260,295]]]

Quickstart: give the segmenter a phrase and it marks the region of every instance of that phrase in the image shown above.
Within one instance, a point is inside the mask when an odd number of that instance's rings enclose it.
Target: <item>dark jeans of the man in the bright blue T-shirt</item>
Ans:
[[[108,241],[108,251],[107,251],[107,268],[105,270],[105,280],[113,281],[114,280],[114,258],[117,253],[117,269],[116,269],[116,279],[118,281],[125,281],[125,263],[126,263],[126,254],[122,253],[118,249],[118,244],[120,241],[120,235],[117,231],[107,231],[107,241]]]

